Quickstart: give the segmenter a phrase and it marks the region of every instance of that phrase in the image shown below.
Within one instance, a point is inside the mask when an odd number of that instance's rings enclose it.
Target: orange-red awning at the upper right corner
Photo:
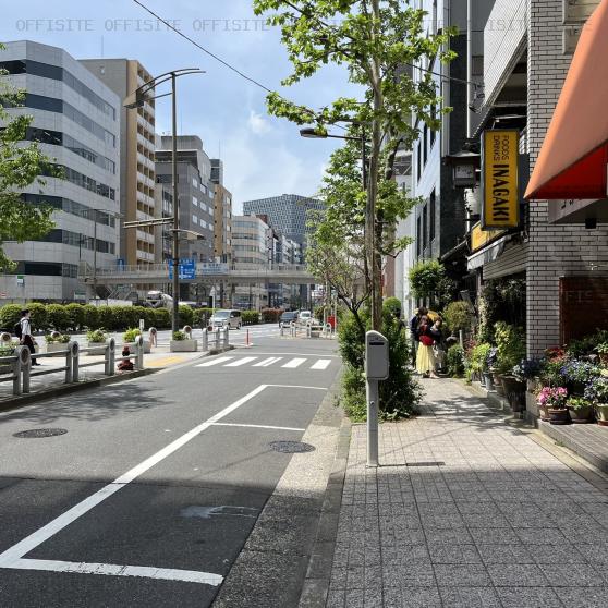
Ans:
[[[606,198],[608,0],[583,27],[525,198]]]

